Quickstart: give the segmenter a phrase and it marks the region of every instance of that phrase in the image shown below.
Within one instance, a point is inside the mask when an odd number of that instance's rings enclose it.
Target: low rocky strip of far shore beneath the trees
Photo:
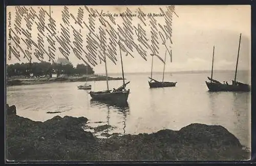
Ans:
[[[106,76],[77,76],[77,77],[56,77],[56,78],[8,78],[7,86],[48,84],[54,82],[79,82],[79,81],[102,81]],[[121,77],[108,77],[108,80],[122,80]]]

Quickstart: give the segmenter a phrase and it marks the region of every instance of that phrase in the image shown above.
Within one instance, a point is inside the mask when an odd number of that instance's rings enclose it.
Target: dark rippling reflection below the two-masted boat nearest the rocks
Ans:
[[[107,102],[107,101],[98,101],[98,100],[94,100],[91,99],[90,100],[90,105],[92,107],[104,107],[106,108],[106,125],[108,126],[105,130],[105,133],[102,133],[101,135],[109,137],[111,136],[110,131],[111,128],[115,128],[115,126],[111,126],[110,122],[111,122],[111,113],[117,113],[119,115],[122,115],[122,130],[123,133],[125,134],[125,128],[126,128],[126,119],[127,119],[127,115],[129,115],[130,112],[130,107],[129,107],[129,103],[128,102],[121,102],[121,103],[112,103],[112,102]],[[121,134],[121,133],[115,133],[115,134]]]

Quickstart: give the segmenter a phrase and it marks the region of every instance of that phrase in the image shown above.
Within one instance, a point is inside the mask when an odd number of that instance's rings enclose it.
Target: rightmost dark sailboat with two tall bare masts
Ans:
[[[237,57],[237,65],[236,65],[236,72],[234,74],[234,80],[232,80],[232,84],[228,85],[222,84],[220,81],[212,78],[212,70],[214,68],[214,51],[212,53],[212,65],[211,65],[211,77],[207,77],[210,82],[205,81],[209,91],[212,92],[220,92],[220,91],[231,91],[231,92],[249,92],[250,87],[247,84],[237,81],[237,69],[238,69],[238,59],[239,59],[239,51],[240,51],[240,43],[241,43],[241,34],[239,39],[239,47],[238,47],[238,57]],[[214,46],[215,49],[215,46]]]

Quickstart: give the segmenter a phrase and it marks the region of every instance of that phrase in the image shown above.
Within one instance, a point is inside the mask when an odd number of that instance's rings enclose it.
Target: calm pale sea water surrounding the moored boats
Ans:
[[[110,76],[121,76],[110,75]],[[205,84],[209,73],[165,74],[165,81],[177,81],[176,87],[150,89],[149,74],[125,74],[131,81],[128,105],[116,106],[91,101],[86,90],[78,90],[83,82],[7,87],[7,103],[15,104],[17,115],[34,121],[54,116],[86,117],[89,126],[113,126],[111,133],[152,133],[161,129],[179,130],[191,123],[222,125],[250,147],[251,94],[238,92],[211,93]],[[214,78],[228,81],[233,72],[217,72]],[[162,75],[155,73],[161,80]],[[249,73],[238,73],[238,80],[250,84]],[[105,90],[105,81],[90,82],[93,91]],[[122,80],[109,81],[110,88]],[[62,112],[47,114],[47,112]],[[100,123],[101,122],[101,123]],[[96,133],[96,135],[100,133]]]

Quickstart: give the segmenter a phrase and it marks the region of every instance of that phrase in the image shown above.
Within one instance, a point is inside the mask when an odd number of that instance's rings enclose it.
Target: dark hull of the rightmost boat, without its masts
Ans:
[[[242,85],[224,85],[216,82],[207,82],[205,81],[206,86],[211,92],[221,92],[221,91],[230,91],[230,92],[249,92],[250,87],[247,84]]]

